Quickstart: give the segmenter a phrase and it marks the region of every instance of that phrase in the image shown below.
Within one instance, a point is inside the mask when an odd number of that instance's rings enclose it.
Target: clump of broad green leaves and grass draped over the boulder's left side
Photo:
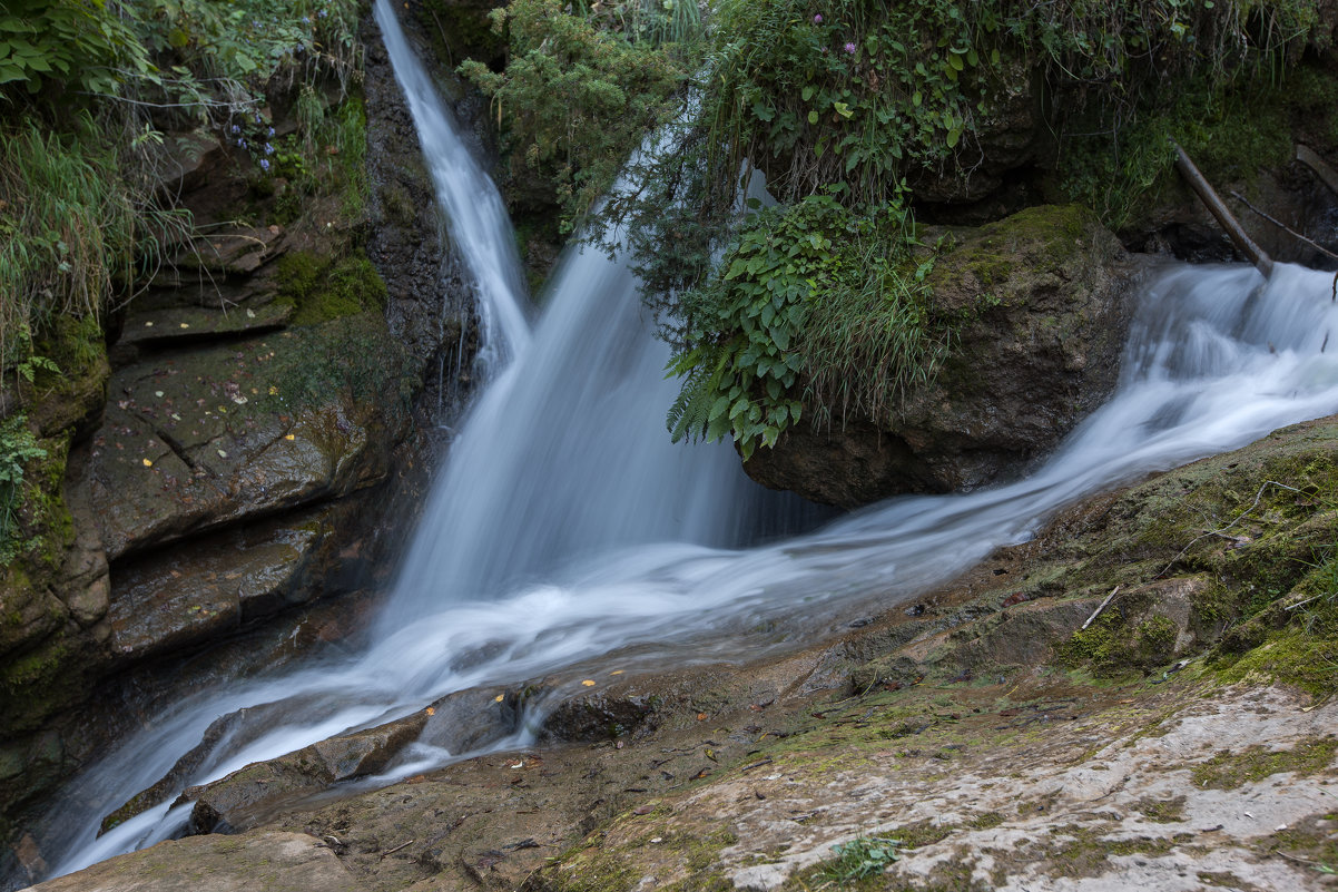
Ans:
[[[755,213],[720,275],[678,296],[674,441],[729,434],[747,459],[805,403],[878,413],[930,380],[949,333],[930,323],[931,263],[914,244],[899,198],[851,212],[811,196]]]

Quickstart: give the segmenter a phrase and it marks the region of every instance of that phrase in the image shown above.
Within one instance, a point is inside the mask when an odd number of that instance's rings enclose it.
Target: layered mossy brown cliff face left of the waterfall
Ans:
[[[217,134],[169,134],[190,149],[162,190],[202,234],[106,338],[43,347],[63,374],[23,392],[45,457],[25,474],[29,546],[0,589],[5,837],[173,674],[189,687],[249,671],[190,655],[274,621],[298,644],[352,634],[443,446],[434,431],[468,394],[471,293],[443,260],[408,110],[364,27],[364,95],[328,114],[365,114],[365,196],[302,193]],[[265,108],[276,142],[292,114]],[[364,147],[322,147],[343,151]],[[250,650],[264,663],[294,648]]]

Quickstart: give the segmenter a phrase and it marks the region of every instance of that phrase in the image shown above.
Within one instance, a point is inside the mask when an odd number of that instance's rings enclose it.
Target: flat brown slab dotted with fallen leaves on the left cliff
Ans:
[[[387,434],[407,414],[384,392],[397,384],[385,366],[399,354],[376,321],[341,319],[116,372],[90,453],[107,557],[380,479]]]

